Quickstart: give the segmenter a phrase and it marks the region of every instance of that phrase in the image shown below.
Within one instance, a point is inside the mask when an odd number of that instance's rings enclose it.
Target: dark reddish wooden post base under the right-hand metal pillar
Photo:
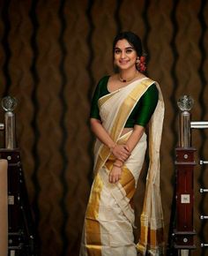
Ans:
[[[178,147],[176,151],[176,216],[175,216],[175,249],[195,249],[193,226],[194,187],[193,171],[194,161],[193,147]]]

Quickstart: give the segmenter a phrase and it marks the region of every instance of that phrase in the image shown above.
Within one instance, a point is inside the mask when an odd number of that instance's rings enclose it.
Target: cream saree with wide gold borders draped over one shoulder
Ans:
[[[117,144],[124,144],[132,131],[121,136],[132,109],[155,81],[139,79],[127,87],[100,98],[102,125]],[[157,84],[157,83],[156,83]],[[85,213],[80,256],[136,256],[163,254],[163,214],[160,200],[160,140],[164,103],[159,102],[149,125],[150,165],[146,178],[145,203],[141,215],[139,243],[135,245],[132,199],[145,160],[146,135],[143,134],[123,165],[116,184],[108,182],[115,157],[108,147],[96,140],[94,147],[94,180]]]

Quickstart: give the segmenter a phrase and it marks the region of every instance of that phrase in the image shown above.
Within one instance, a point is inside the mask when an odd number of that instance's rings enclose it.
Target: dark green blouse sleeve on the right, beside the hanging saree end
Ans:
[[[137,111],[136,124],[145,127],[150,121],[154,109],[159,100],[159,91],[155,84],[147,89],[145,94],[139,100],[139,108]]]

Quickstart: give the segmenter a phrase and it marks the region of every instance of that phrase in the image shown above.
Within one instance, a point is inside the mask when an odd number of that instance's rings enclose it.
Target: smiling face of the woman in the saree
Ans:
[[[116,42],[114,51],[114,64],[120,70],[136,70],[137,52],[129,41],[122,39]]]

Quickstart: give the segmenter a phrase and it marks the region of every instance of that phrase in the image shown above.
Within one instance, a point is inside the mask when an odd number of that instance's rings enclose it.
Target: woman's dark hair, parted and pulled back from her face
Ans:
[[[129,41],[130,45],[136,50],[137,56],[142,56],[143,51],[142,51],[142,41],[141,39],[137,36],[137,34],[134,34],[133,32],[130,31],[125,31],[122,33],[119,33],[115,36],[114,42],[113,42],[113,56],[115,52],[115,44],[119,40],[127,40]]]

